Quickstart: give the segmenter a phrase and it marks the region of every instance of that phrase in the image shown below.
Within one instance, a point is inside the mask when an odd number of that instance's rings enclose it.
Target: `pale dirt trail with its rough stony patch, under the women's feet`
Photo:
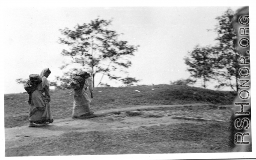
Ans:
[[[178,118],[176,115],[166,115],[163,111],[157,110],[157,108],[172,109],[173,107],[181,106],[203,106],[205,104],[187,104],[187,105],[158,105],[158,106],[136,106],[121,109],[109,109],[96,111],[94,115],[96,117],[84,117],[79,119],[72,119],[68,117],[66,119],[54,120],[53,124],[42,127],[29,128],[27,125],[22,127],[5,128],[5,144],[13,142],[24,137],[51,137],[60,136],[67,132],[89,132],[89,131],[106,131],[110,129],[136,129],[141,126],[161,125],[161,124],[178,124],[178,123],[203,123],[202,121],[190,121],[186,119]],[[143,111],[136,111],[140,109]],[[131,112],[132,111],[132,112]],[[154,111],[152,114],[151,111]],[[118,112],[114,114],[114,112]],[[127,113],[135,115],[127,116]],[[137,114],[137,115],[136,115]],[[17,146],[19,144],[16,144]],[[8,147],[8,146],[6,146]]]

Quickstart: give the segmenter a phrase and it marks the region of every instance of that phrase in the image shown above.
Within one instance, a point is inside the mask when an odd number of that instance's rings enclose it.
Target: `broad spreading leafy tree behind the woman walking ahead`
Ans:
[[[128,45],[127,41],[118,40],[120,34],[107,29],[111,23],[112,20],[97,18],[90,23],[77,24],[73,30],[60,29],[64,38],[60,38],[59,43],[68,46],[68,49],[63,49],[61,54],[71,57],[71,61],[66,62],[61,69],[76,64],[76,67],[70,68],[62,77],[57,77],[62,84],[67,83],[74,73],[87,68],[93,69],[93,79],[96,74],[102,74],[99,85],[103,85],[101,81],[104,75],[110,80],[118,80],[126,85],[139,81],[134,77],[122,78],[113,73],[119,71],[128,75],[125,69],[132,65],[128,58],[134,56],[139,45]]]

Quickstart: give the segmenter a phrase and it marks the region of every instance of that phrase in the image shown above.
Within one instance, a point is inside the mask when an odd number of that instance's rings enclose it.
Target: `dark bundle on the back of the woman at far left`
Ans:
[[[29,80],[27,81],[24,89],[27,91],[27,93],[32,94],[37,89],[37,85],[41,82],[42,79],[39,75],[29,75]]]

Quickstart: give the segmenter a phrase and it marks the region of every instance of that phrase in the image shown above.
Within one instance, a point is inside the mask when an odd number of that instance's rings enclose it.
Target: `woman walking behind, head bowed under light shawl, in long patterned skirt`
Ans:
[[[29,127],[36,127],[33,124],[53,123],[52,112],[50,109],[50,95],[49,95],[49,83],[47,77],[51,71],[49,68],[45,68],[39,75],[42,79],[42,83],[39,83],[37,90],[32,93],[31,104],[29,105]]]

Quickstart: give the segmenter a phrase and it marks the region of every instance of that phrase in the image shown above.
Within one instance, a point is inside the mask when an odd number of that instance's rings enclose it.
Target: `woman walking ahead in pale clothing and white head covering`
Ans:
[[[84,86],[79,90],[74,90],[71,95],[74,95],[74,105],[72,111],[72,118],[79,116],[91,115],[94,112],[91,110],[90,103],[93,98],[93,70],[87,69],[90,77],[84,79]],[[89,89],[87,89],[87,87]]]

